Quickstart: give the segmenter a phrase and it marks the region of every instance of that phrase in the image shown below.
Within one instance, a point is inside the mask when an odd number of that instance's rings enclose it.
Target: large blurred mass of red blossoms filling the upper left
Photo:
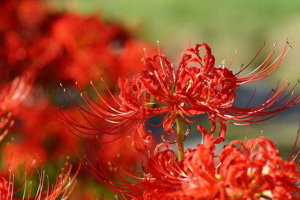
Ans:
[[[0,11],[0,18],[5,19],[0,22],[1,67],[9,66],[6,70],[12,76],[36,69],[36,81],[45,85],[77,80],[86,86],[100,76],[114,83],[122,72],[127,76],[140,65],[139,59],[130,56],[137,52],[135,48],[147,46],[130,44],[134,39],[117,23],[54,12],[40,0],[4,0]],[[124,53],[132,58],[126,59],[130,64],[121,63]]]

